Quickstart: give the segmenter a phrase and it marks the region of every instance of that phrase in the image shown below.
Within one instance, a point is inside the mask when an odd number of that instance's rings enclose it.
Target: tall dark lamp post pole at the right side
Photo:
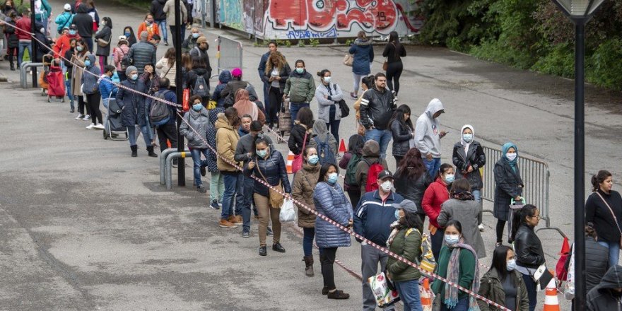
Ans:
[[[585,310],[585,23],[575,22],[575,310]]]

